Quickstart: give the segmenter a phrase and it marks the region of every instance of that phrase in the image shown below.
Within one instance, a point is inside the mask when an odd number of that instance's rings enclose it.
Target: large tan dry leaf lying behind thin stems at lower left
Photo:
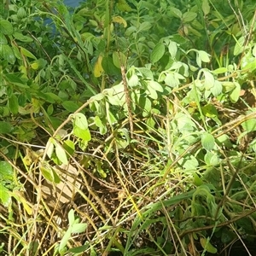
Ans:
[[[50,205],[55,205],[58,198],[61,204],[73,201],[76,189],[81,187],[81,183],[77,181],[78,170],[71,165],[62,164],[61,166],[55,166],[55,172],[61,178],[61,182],[54,184],[44,180],[42,191],[45,199],[49,201]]]

